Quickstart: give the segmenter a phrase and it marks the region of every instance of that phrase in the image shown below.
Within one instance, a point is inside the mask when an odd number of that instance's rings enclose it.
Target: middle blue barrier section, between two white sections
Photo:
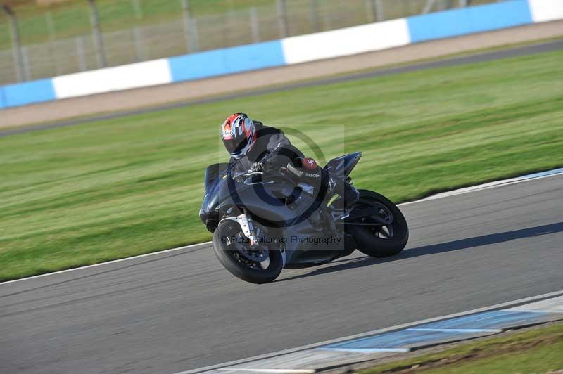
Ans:
[[[172,82],[285,65],[280,40],[217,49],[168,59]]]

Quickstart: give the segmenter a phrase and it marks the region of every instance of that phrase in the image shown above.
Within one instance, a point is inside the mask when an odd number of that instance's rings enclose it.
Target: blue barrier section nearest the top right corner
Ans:
[[[407,18],[412,43],[532,23],[526,0],[472,6]]]

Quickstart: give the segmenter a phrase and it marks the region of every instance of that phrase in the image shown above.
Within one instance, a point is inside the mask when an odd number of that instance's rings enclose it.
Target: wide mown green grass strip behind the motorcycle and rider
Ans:
[[[227,159],[218,128],[241,110],[298,125],[327,159],[361,150],[356,185],[397,202],[561,167],[562,58],[545,53],[0,138],[0,279],[209,240],[198,221],[203,170]]]

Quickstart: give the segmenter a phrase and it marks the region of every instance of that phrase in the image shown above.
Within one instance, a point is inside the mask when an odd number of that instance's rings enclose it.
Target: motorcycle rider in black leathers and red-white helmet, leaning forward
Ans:
[[[358,200],[359,193],[343,176],[326,172],[310,157],[305,157],[291,144],[284,132],[274,127],[267,127],[260,121],[251,120],[245,113],[235,113],[225,120],[221,127],[224,147],[231,155],[230,164],[235,172],[279,172],[282,167],[296,179],[329,188],[341,196],[346,209],[350,209]],[[319,193],[317,196],[324,196]]]

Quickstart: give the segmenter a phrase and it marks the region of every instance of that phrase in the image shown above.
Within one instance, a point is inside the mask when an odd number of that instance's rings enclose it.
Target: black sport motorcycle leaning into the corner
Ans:
[[[324,167],[328,183],[335,178],[350,182],[361,156],[351,153],[329,161]],[[383,195],[358,190],[360,199],[346,208],[330,188],[318,190],[284,169],[265,175],[237,174],[227,163],[208,167],[199,216],[213,233],[221,264],[247,282],[269,283],[284,268],[326,264],[356,249],[387,257],[407,245],[407,221]]]

